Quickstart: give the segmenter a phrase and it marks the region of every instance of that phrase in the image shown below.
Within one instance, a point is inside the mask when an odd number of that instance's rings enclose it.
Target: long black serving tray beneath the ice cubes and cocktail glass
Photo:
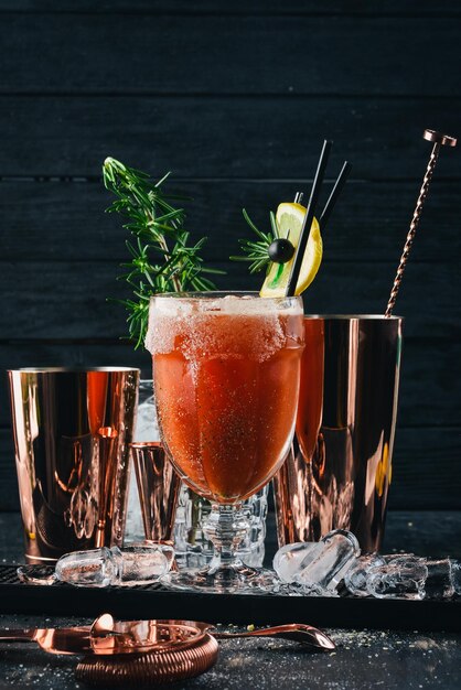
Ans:
[[[160,584],[74,587],[20,582],[17,565],[0,565],[0,613],[126,619],[181,618],[236,625],[308,623],[319,627],[461,632],[461,597],[405,601],[172,592]]]

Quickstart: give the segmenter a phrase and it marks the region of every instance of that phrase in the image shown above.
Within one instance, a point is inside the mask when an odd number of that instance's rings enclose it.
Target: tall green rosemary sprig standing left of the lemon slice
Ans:
[[[184,209],[170,203],[186,197],[167,195],[162,190],[169,175],[154,182],[148,173],[112,158],[103,165],[104,185],[116,196],[107,212],[128,218],[124,227],[135,236],[135,241],[126,241],[130,261],[121,263],[125,272],[118,277],[131,288],[133,298],[117,301],[129,312],[129,337],[136,341],[136,348],[146,337],[152,294],[214,290],[214,283],[203,274],[224,273],[203,266],[200,251],[206,237],[190,244]]]

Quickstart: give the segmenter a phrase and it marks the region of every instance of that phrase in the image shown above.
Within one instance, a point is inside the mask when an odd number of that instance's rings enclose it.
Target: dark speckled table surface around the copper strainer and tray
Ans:
[[[270,539],[268,547],[270,551]],[[461,558],[461,513],[390,513],[384,551]],[[11,563],[22,560],[20,518],[17,514],[0,514],[0,561]],[[89,621],[0,613],[1,628],[52,627],[86,622]],[[222,642],[214,669],[174,688],[461,688],[460,634],[366,629],[330,629],[328,633],[337,645],[336,650],[329,655],[312,654],[294,643],[282,640]],[[45,655],[32,646],[9,645],[0,650],[0,689],[13,686],[52,690],[84,688],[75,680],[75,665],[74,658]]]

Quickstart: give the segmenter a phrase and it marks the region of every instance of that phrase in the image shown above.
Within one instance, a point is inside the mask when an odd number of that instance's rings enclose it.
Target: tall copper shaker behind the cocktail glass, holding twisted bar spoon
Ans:
[[[342,528],[364,551],[379,549],[401,327],[398,317],[305,319],[297,441],[275,478],[280,546]]]

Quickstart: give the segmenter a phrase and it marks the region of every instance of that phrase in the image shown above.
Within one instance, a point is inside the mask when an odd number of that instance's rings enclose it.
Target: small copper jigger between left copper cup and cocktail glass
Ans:
[[[181,479],[161,443],[131,443],[146,539],[172,541]]]

